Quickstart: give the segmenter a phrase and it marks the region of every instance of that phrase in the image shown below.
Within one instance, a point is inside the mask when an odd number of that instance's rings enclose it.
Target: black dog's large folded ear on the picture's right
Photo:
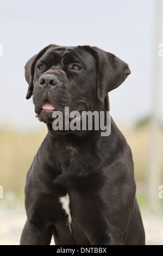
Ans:
[[[120,86],[131,73],[128,64],[98,47],[85,46],[97,62],[97,95],[104,102],[106,93]]]

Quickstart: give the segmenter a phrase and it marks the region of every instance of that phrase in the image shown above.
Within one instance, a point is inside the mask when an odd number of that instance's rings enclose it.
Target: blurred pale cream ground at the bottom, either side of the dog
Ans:
[[[0,211],[0,245],[19,245],[26,222],[24,209],[1,208]],[[163,245],[163,218],[149,215],[147,212],[142,212],[142,218],[146,231],[146,245]]]

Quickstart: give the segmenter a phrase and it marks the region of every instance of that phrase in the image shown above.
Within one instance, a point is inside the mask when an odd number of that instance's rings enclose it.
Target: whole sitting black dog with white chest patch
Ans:
[[[97,47],[49,45],[25,69],[27,99],[48,134],[27,175],[21,245],[49,245],[52,235],[56,245],[144,245],[131,150],[112,118],[109,136],[100,127],[53,129],[65,107],[103,111],[106,124],[108,92],[126,80],[128,65]]]

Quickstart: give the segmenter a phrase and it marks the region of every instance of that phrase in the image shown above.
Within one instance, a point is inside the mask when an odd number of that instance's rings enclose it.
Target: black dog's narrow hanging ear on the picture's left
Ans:
[[[57,45],[48,45],[45,48],[43,48],[39,53],[35,54],[32,58],[30,58],[27,62],[27,64],[24,66],[25,69],[25,77],[26,81],[29,84],[28,92],[26,95],[26,99],[30,99],[30,97],[33,94],[33,78],[34,78],[34,70],[35,70],[35,64],[38,59],[41,58],[41,56],[48,50],[50,47],[54,47]]]

